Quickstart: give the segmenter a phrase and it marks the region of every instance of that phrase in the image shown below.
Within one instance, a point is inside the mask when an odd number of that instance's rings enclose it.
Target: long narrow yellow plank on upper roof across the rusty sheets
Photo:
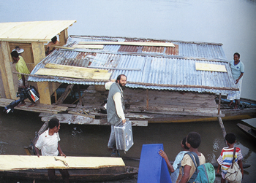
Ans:
[[[146,47],[175,47],[171,42],[79,42],[78,44],[116,44]]]

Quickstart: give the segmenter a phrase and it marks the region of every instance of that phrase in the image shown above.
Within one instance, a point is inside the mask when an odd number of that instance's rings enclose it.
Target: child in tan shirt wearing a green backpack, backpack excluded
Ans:
[[[201,143],[201,136],[197,132],[190,132],[187,135],[187,142],[186,145],[189,147],[189,152],[192,152],[192,156],[197,156],[199,159],[199,164],[202,165],[206,163],[206,157],[204,157],[203,153],[198,152],[198,147]],[[185,154],[183,159],[181,160],[181,166],[184,168],[183,174],[179,174],[177,181],[180,180],[180,183],[189,182],[189,179],[193,176],[197,167],[194,163],[195,160],[192,160],[189,154]],[[199,165],[197,165],[199,166]],[[215,178],[215,177],[214,177]],[[194,182],[194,181],[192,181]]]

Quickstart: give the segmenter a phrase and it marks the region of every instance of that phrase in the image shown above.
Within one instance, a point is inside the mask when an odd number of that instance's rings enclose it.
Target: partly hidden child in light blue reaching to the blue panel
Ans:
[[[181,141],[182,151],[178,152],[178,155],[176,155],[173,165],[170,164],[170,161],[168,160],[168,157],[165,154],[165,152],[162,149],[159,150],[159,155],[165,159],[165,162],[167,163],[167,167],[172,173],[170,174],[170,179],[173,183],[175,183],[178,178],[179,168],[181,167],[181,160],[184,157],[184,154],[189,151],[189,148],[186,145],[186,139],[187,137],[184,137],[184,139]]]

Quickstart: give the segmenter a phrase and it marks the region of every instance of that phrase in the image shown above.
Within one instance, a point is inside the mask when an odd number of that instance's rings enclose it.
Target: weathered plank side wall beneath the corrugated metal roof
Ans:
[[[91,109],[103,106],[108,91],[96,91],[90,86],[84,91],[83,104]],[[217,116],[218,105],[214,94],[175,92],[170,90],[148,90],[148,106],[145,89],[124,90],[126,108],[129,112],[152,114],[181,114]]]

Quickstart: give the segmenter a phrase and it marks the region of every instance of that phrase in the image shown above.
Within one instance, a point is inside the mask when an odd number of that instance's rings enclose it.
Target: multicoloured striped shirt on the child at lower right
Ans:
[[[222,149],[222,152],[219,155],[217,162],[219,163],[219,165],[222,166],[222,172],[224,174],[227,174],[227,169],[230,168],[230,166],[232,165],[233,152],[234,152],[234,148],[228,149],[228,147],[224,147]],[[238,163],[238,160],[241,160],[241,159],[243,159],[241,149],[239,147],[236,147],[236,154],[235,154],[236,163]]]

